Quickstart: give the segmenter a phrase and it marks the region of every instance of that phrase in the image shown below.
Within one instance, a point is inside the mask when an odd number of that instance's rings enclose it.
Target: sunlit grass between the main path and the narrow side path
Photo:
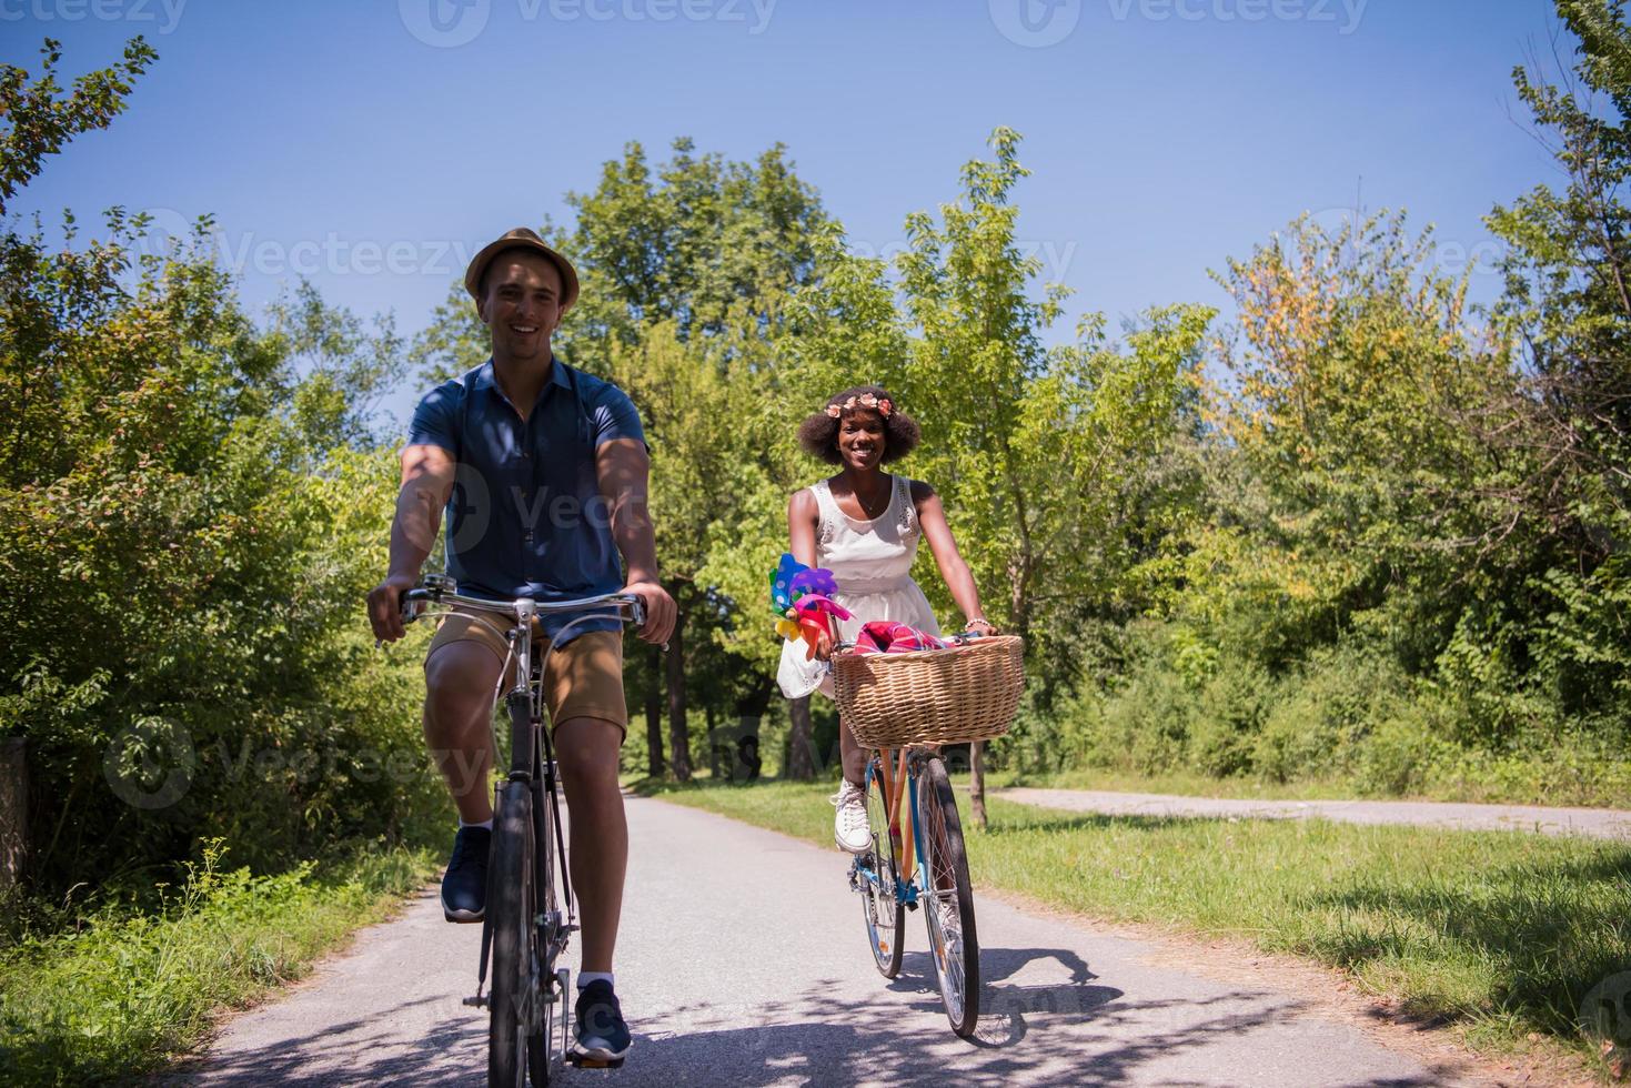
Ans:
[[[832,842],[829,783],[662,789]],[[964,809],[967,811],[967,809]],[[1512,832],[1052,812],[993,799],[974,882],[1349,972],[1487,1049],[1585,1047],[1580,998],[1631,969],[1631,847]]]

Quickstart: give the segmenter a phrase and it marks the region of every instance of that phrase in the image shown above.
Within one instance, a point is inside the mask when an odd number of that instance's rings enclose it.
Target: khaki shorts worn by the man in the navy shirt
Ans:
[[[504,617],[483,617],[486,623],[463,615],[444,617],[426,651],[426,662],[449,643],[480,643],[504,661],[509,643],[499,631],[514,623]],[[548,643],[533,641],[533,652]],[[514,666],[511,666],[514,667]],[[543,675],[543,701],[550,708],[551,728],[572,718],[599,718],[617,726],[628,737],[628,703],[623,698],[623,631],[584,631],[550,652]]]

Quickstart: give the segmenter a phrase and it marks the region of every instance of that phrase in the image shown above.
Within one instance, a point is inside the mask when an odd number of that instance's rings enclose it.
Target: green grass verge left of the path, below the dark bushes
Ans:
[[[82,1085],[161,1068],[225,1008],[305,974],[359,925],[385,917],[435,860],[373,845],[251,876],[219,848],[158,910],[103,907],[0,946],[0,1083]]]

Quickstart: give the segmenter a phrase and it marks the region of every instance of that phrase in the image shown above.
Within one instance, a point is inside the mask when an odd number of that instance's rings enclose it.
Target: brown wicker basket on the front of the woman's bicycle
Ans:
[[[966,744],[1008,732],[1024,688],[1024,639],[995,635],[953,649],[835,654],[833,695],[869,749]]]

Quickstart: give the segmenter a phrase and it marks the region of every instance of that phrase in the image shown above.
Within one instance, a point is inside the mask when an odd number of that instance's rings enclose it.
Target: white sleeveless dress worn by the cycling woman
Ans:
[[[897,620],[930,635],[939,635],[939,623],[928,607],[928,597],[912,581],[912,561],[923,535],[912,484],[905,476],[891,476],[889,507],[871,520],[850,517],[838,509],[832,488],[822,480],[811,486],[820,511],[816,525],[816,566],[827,568],[838,582],[835,602],[850,610],[840,620],[840,636],[853,641],[869,620]],[[804,639],[788,639],[781,648],[776,682],[788,698],[819,690],[832,697],[827,662],[806,661]]]

